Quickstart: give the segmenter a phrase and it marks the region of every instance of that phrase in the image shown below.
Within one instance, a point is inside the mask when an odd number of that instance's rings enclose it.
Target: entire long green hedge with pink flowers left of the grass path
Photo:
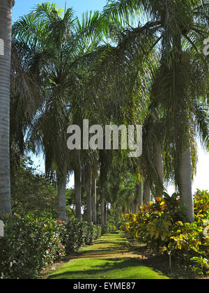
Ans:
[[[87,223],[27,216],[4,218],[0,237],[0,278],[38,278],[40,271],[100,236],[101,228]]]

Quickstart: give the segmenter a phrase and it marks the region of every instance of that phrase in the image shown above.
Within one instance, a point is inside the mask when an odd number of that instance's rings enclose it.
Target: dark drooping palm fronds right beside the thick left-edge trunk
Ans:
[[[20,156],[26,151],[26,133],[33,117],[43,103],[39,76],[35,75],[31,56],[23,50],[19,42],[12,38],[11,82],[10,82],[10,176],[11,184]]]

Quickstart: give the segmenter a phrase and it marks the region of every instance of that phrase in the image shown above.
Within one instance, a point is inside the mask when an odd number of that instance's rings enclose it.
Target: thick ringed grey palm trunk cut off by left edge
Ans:
[[[10,202],[10,59],[12,8],[15,1],[0,1],[0,216],[12,214]]]

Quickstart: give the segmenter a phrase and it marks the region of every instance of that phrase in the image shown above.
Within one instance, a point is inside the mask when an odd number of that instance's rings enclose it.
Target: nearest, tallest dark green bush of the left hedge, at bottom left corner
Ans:
[[[61,243],[63,228],[52,219],[3,219],[5,236],[0,238],[0,277],[37,278],[47,264],[65,257]]]

